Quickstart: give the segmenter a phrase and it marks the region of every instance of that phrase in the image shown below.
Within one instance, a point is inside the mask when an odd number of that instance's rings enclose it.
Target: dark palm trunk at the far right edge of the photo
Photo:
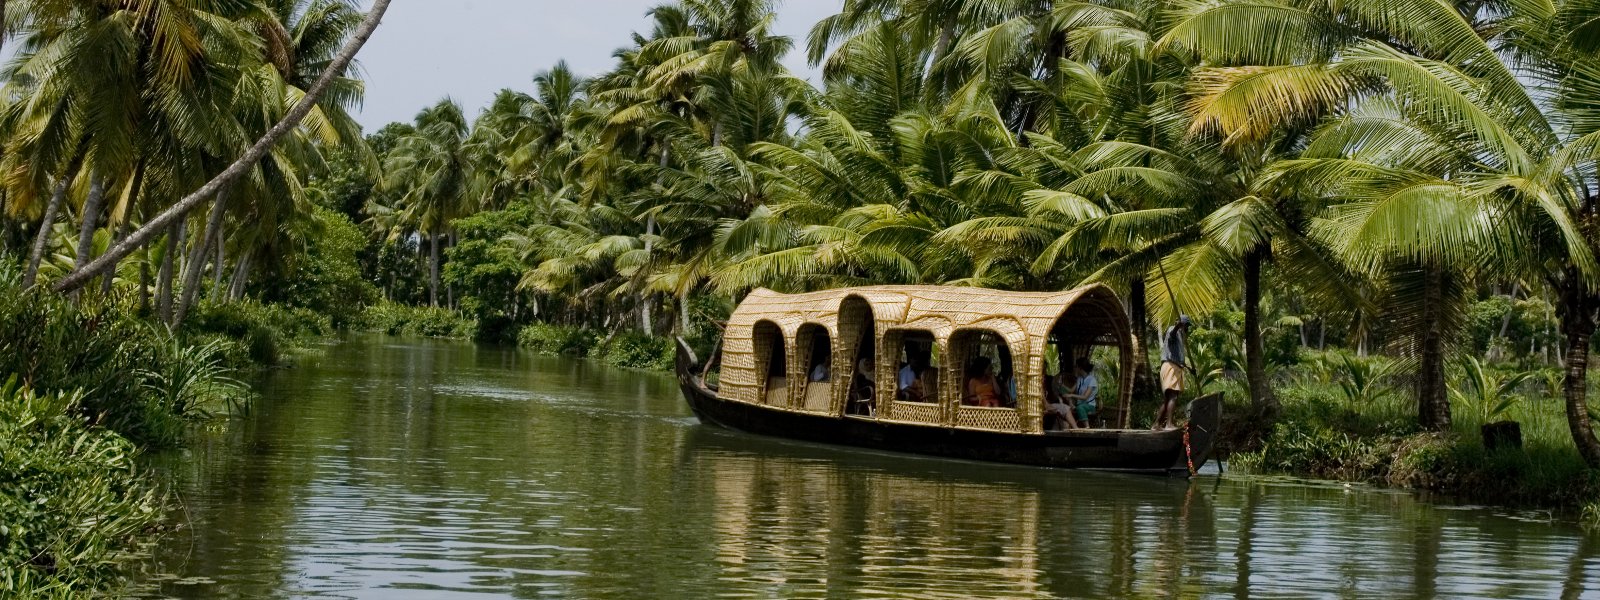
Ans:
[[[1571,267],[1562,280],[1560,294],[1562,333],[1566,336],[1566,357],[1562,363],[1566,371],[1562,378],[1566,427],[1584,462],[1600,469],[1600,440],[1595,438],[1594,422],[1589,419],[1589,342],[1595,333],[1600,296],[1584,290],[1578,269]]]

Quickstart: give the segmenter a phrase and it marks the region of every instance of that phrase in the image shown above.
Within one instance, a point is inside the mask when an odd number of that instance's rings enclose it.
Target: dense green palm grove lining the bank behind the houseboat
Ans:
[[[1600,466],[1600,58],[1574,26],[1600,5],[843,2],[805,40],[819,86],[773,10],[662,3],[610,70],[387,126],[366,222],[430,304],[563,352],[547,326],[698,334],[722,315],[696,301],[755,286],[1104,283],[1146,350],[1206,322],[1197,376],[1245,384],[1254,440],[1312,350],[1397,358],[1430,432],[1459,357],[1560,363]]]

